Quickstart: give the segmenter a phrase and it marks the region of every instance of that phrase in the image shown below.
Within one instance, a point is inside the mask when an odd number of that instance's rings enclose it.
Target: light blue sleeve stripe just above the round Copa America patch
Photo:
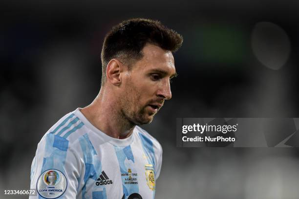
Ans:
[[[45,154],[41,173],[48,169],[57,169],[64,173],[67,148],[68,140],[58,135],[48,133],[46,135]]]

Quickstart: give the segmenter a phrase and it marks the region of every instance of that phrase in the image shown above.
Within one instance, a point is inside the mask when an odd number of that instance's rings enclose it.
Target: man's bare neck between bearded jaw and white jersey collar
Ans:
[[[129,122],[122,112],[116,109],[119,104],[117,99],[107,95],[108,93],[101,89],[95,100],[81,112],[93,126],[103,133],[117,139],[125,139],[133,133],[135,124]]]

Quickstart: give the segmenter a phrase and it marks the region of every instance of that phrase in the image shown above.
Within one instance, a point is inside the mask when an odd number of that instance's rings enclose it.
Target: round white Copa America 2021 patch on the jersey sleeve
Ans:
[[[67,180],[64,174],[56,169],[49,169],[39,177],[36,189],[46,199],[56,199],[64,194]]]

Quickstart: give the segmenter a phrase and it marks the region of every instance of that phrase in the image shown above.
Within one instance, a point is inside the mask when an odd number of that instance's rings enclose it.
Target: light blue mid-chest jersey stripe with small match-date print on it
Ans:
[[[114,150],[118,159],[121,173],[128,174],[128,169],[131,169],[132,173],[137,173],[135,169],[134,156],[131,147],[114,146]],[[134,176],[134,178],[138,178],[138,177]],[[128,182],[128,180],[126,179],[128,179],[128,176],[122,175],[123,193],[125,194],[125,199],[128,199],[128,196],[130,194],[139,192],[139,187],[138,184],[126,184],[125,182]],[[138,179],[136,181],[138,181]]]

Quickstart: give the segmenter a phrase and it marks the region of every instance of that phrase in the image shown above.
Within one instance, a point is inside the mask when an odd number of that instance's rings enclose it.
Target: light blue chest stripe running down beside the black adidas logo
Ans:
[[[83,160],[85,164],[85,174],[84,174],[84,187],[82,188],[82,199],[85,199],[86,194],[86,187],[94,187],[97,178],[99,177],[100,173],[102,172],[102,164],[99,160],[99,157],[90,142],[88,134],[84,134],[83,136],[79,137],[80,146],[83,152]],[[90,186],[88,186],[90,185]],[[102,185],[103,186],[103,185]],[[89,190],[88,192],[91,192]],[[97,193],[99,195],[99,193]],[[96,195],[97,195],[96,194]],[[106,199],[106,188],[103,186],[102,191],[103,198]]]

